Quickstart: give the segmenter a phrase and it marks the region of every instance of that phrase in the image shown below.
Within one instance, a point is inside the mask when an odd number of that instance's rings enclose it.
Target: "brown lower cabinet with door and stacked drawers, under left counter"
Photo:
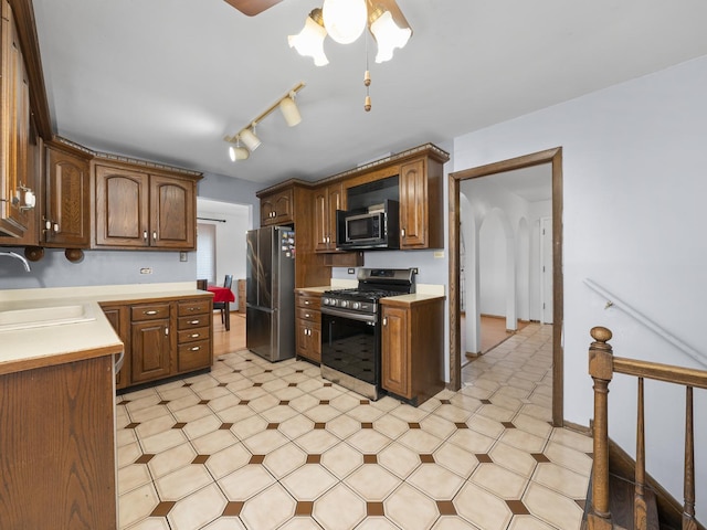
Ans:
[[[116,389],[208,369],[213,363],[211,295],[101,306],[125,344]]]

